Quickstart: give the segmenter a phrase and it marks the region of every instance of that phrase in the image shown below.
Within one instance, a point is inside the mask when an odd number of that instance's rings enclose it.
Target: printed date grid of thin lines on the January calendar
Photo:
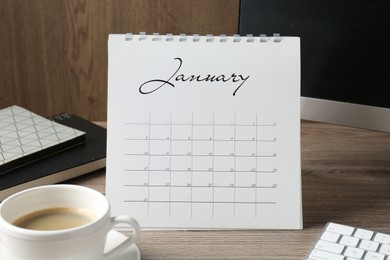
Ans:
[[[211,217],[215,217],[216,205],[232,205],[232,217],[236,218],[237,214],[237,205],[253,205],[254,218],[258,218],[259,207],[260,205],[275,205],[277,201],[275,199],[262,198],[262,190],[276,190],[277,183],[268,183],[261,184],[261,174],[268,174],[269,176],[278,174],[278,169],[275,167],[268,168],[259,168],[262,166],[261,160],[267,159],[277,159],[278,155],[276,151],[263,151],[260,152],[260,148],[265,145],[274,145],[277,143],[277,137],[261,137],[263,128],[275,128],[277,127],[276,122],[270,124],[264,124],[258,122],[258,115],[254,115],[254,121],[244,124],[242,122],[237,123],[237,115],[233,114],[233,120],[230,123],[216,123],[215,114],[212,115],[212,120],[209,123],[199,123],[194,122],[194,114],[190,115],[188,122],[173,122],[172,113],[169,114],[169,119],[164,122],[153,122],[152,114],[149,113],[148,118],[144,122],[126,122],[125,125],[133,128],[143,128],[146,127],[147,132],[142,136],[142,134],[127,135],[124,138],[125,142],[129,142],[135,147],[143,147],[143,143],[147,143],[146,150],[134,149],[133,151],[125,152],[125,160],[138,160],[142,161],[142,158],[147,158],[147,164],[143,167],[135,167],[132,164],[129,164],[129,167],[124,168],[124,173],[129,174],[129,178],[133,179],[134,183],[125,183],[124,187],[139,189],[140,191],[147,189],[147,193],[144,197],[130,197],[124,200],[125,203],[145,203],[146,204],[146,215],[150,216],[151,207],[155,205],[167,204],[168,206],[168,216],[173,217],[173,207],[174,205],[189,205],[190,217],[193,217],[193,208],[194,205],[211,205]],[[158,133],[168,128],[167,136],[154,136],[153,133]],[[178,134],[178,129],[189,129],[189,136],[175,136],[175,133]],[[195,132],[197,128],[198,133]],[[219,129],[219,132],[223,129],[231,131],[231,137],[227,136],[221,137],[217,136],[216,129]],[[210,131],[211,134],[209,137],[196,137],[196,134],[204,131]],[[221,130],[222,129],[222,130]],[[232,130],[228,130],[232,129]],[[254,134],[248,136],[238,136],[238,129],[254,129]],[[247,130],[249,131],[249,130]],[[132,131],[129,131],[131,133]],[[243,131],[245,132],[245,131]],[[272,129],[271,132],[275,132]],[[179,133],[180,135],[181,133]],[[231,144],[231,145],[230,145]],[[158,146],[165,146],[166,150],[160,149],[159,151],[153,150]],[[210,151],[203,150],[203,152],[195,151],[195,147],[210,146]],[[231,150],[216,150],[216,147],[231,146]],[[254,147],[253,151],[250,153],[243,153],[238,151],[238,145],[240,147]],[[187,151],[175,151],[177,147],[188,147]],[[202,164],[197,164],[200,160],[210,159],[210,165],[204,166]],[[219,165],[216,164],[216,160],[219,161]],[[242,160],[252,162],[251,166],[247,167]],[[157,166],[157,162],[165,162],[166,166]],[[188,161],[188,166],[183,166]],[[224,165],[221,164],[221,161],[225,161],[226,164],[229,164],[231,161],[231,166],[224,168]],[[238,163],[240,161],[240,163]],[[163,164],[163,163],[161,163]],[[240,168],[241,167],[241,168]],[[247,168],[245,168],[247,167]],[[167,173],[168,179],[162,183],[152,183],[153,178],[163,178],[164,174]],[[137,178],[142,179],[142,175],[146,174],[147,178],[145,181],[139,181],[137,183]],[[271,175],[270,175],[271,174]],[[140,177],[141,176],[141,177]],[[153,177],[152,177],[153,176]],[[178,179],[184,178],[183,176],[188,176],[187,181],[179,182]],[[203,176],[203,177],[202,177]],[[231,177],[229,177],[231,176]],[[245,177],[246,176],[246,177]],[[240,184],[243,182],[244,178],[253,178],[252,183],[250,184]],[[252,176],[252,177],[251,177]],[[231,178],[231,181],[228,184],[218,183],[218,180],[223,180],[224,178]],[[206,184],[197,184],[196,181],[201,182],[203,179],[209,179]],[[167,196],[162,196],[161,198],[155,198],[152,195],[156,191],[167,190]],[[188,190],[188,195],[186,198],[177,197],[178,190],[186,193],[185,190]],[[210,192],[208,198],[199,199],[201,190],[205,193]],[[210,190],[210,191],[209,191]],[[228,195],[231,192],[231,195]],[[140,192],[142,193],[142,192]],[[252,194],[245,195],[243,193]],[[223,195],[227,194],[227,197],[231,196],[230,199],[225,199]],[[156,196],[156,195],[154,195]],[[222,197],[221,197],[222,196]]]

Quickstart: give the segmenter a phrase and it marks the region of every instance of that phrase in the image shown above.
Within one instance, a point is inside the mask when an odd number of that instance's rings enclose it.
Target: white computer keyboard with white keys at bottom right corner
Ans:
[[[390,260],[390,234],[328,223],[306,259]]]

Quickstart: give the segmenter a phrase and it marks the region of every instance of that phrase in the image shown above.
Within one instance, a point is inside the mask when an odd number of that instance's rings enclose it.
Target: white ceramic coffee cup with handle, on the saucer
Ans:
[[[47,208],[80,208],[94,215],[91,222],[68,229],[40,231],[21,228],[14,221]],[[117,224],[128,224],[133,233],[104,253],[107,234]],[[135,243],[138,222],[127,215],[111,217],[106,197],[87,187],[48,185],[18,192],[0,204],[0,242],[5,260],[98,260],[106,259]]]

